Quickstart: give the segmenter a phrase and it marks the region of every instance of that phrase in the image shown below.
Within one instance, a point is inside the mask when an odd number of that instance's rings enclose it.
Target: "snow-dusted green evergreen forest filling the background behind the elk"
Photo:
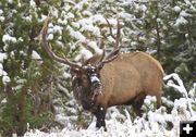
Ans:
[[[27,123],[35,128],[49,127],[53,121],[51,102],[57,98],[62,101],[66,115],[78,114],[74,121],[85,125],[84,113],[70,101],[73,98],[71,76],[64,76],[64,71],[70,73],[69,68],[52,61],[38,41],[47,15],[48,40],[53,52],[73,61],[83,49],[96,52],[90,42],[98,45],[100,41],[98,48],[113,46],[114,39],[109,37],[103,16],[112,22],[118,14],[124,23],[123,48],[152,53],[166,73],[176,72],[185,87],[191,88],[196,77],[195,8],[194,0],[124,3],[108,0],[1,0],[0,53],[5,58],[0,62],[0,71],[3,71],[0,72],[0,97],[7,103],[0,111],[0,134],[15,132],[22,135]],[[114,23],[111,25],[115,27]],[[3,82],[4,76],[10,80]],[[170,100],[180,98],[171,89],[164,91]],[[56,102],[58,107],[62,105],[61,101]],[[73,112],[70,108],[78,110]],[[149,108],[155,109],[155,101],[144,109]]]

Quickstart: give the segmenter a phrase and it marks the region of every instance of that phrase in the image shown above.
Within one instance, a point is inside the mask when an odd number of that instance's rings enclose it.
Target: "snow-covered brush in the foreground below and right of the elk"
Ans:
[[[169,80],[171,77],[175,84]],[[168,80],[168,86],[175,88],[183,97],[175,99],[174,102],[163,97],[166,107],[156,110],[154,107],[156,98],[147,96],[143,109],[148,111],[142,117],[133,120],[126,109],[122,114],[112,107],[108,110],[110,119],[106,120],[107,132],[103,128],[97,129],[96,119],[94,119],[87,129],[76,129],[72,123],[69,123],[62,130],[51,129],[50,133],[29,129],[24,137],[177,137],[181,121],[196,121],[196,111],[193,110],[196,105],[196,84],[187,94],[177,74],[168,75],[164,79]],[[167,105],[172,108],[170,112]]]

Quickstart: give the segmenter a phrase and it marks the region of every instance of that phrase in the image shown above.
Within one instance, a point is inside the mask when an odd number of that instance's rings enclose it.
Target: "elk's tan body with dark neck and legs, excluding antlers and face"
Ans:
[[[90,61],[91,60],[91,61]],[[89,65],[90,64],[90,65]],[[97,61],[89,59],[88,72],[91,75],[91,67]],[[84,75],[84,74],[82,74]],[[157,108],[161,105],[162,76],[163,70],[160,63],[145,52],[121,53],[119,57],[98,71],[97,85],[101,87],[101,94],[93,98],[89,89],[78,89],[79,83],[84,79],[74,77],[73,91],[76,99],[84,109],[93,112],[97,117],[97,127],[106,126],[105,115],[107,108],[112,105],[132,104],[137,115],[140,115],[140,108],[147,95],[156,96]],[[81,95],[82,94],[82,95]]]

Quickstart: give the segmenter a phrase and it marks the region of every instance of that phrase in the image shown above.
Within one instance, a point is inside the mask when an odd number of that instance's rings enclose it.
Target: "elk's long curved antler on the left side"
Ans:
[[[49,48],[48,46],[48,41],[47,41],[47,30],[48,30],[48,17],[46,18],[45,23],[44,23],[44,26],[41,28],[41,32],[40,32],[40,42],[41,42],[41,46],[42,48],[47,51],[48,55],[56,60],[57,62],[60,62],[60,63],[63,63],[63,64],[66,64],[66,65],[70,65],[72,68],[78,68],[81,67],[77,63],[74,63],[74,62],[71,62],[69,59],[63,59],[63,58],[60,58],[58,57],[56,53],[52,52],[52,50]]]

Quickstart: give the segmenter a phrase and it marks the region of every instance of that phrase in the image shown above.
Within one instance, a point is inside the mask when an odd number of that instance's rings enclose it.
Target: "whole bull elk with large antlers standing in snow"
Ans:
[[[108,25],[112,33],[109,22]],[[46,38],[47,29],[48,18],[40,32],[41,46],[51,59],[71,67],[74,97],[97,117],[96,127],[106,129],[105,116],[109,107],[132,104],[135,113],[140,115],[147,95],[156,96],[157,108],[161,105],[162,66],[145,52],[120,53],[119,21],[117,36],[111,34],[115,37],[114,49],[108,54],[103,50],[101,55],[94,55],[82,65],[52,52]]]

